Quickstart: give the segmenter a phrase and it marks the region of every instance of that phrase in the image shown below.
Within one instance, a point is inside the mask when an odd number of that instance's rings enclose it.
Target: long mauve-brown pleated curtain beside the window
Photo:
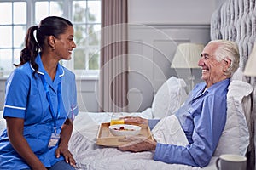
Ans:
[[[127,111],[127,0],[102,0],[100,111]]]

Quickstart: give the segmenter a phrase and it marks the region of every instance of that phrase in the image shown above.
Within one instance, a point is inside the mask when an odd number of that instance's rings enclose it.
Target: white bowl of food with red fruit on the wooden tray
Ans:
[[[134,136],[141,132],[142,127],[136,125],[116,124],[108,127],[114,136]]]

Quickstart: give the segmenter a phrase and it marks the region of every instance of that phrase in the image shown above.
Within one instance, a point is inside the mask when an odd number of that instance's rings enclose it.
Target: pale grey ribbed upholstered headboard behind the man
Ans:
[[[244,70],[249,54],[256,40],[256,0],[226,0],[212,14],[211,39],[227,39],[238,44],[240,52],[240,67]],[[255,114],[256,93],[255,77],[247,77],[247,82],[254,87],[253,108],[251,119],[251,141],[248,150],[249,169],[255,169]]]

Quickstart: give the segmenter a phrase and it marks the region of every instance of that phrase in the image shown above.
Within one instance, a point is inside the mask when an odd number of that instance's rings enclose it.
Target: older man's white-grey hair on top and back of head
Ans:
[[[239,50],[236,42],[231,42],[228,40],[212,40],[209,43],[217,43],[218,48],[214,52],[216,59],[220,62],[222,59],[230,59],[230,67],[228,70],[224,73],[227,77],[232,77],[234,72],[239,67]]]

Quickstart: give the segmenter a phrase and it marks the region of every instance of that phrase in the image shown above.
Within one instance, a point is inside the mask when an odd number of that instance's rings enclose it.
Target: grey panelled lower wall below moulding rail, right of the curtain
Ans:
[[[190,91],[190,70],[171,68],[172,59],[179,43],[206,44],[209,25],[133,25],[129,35],[129,111],[151,107],[160,85],[172,76],[183,78]],[[193,75],[201,82],[201,69],[193,69]]]

